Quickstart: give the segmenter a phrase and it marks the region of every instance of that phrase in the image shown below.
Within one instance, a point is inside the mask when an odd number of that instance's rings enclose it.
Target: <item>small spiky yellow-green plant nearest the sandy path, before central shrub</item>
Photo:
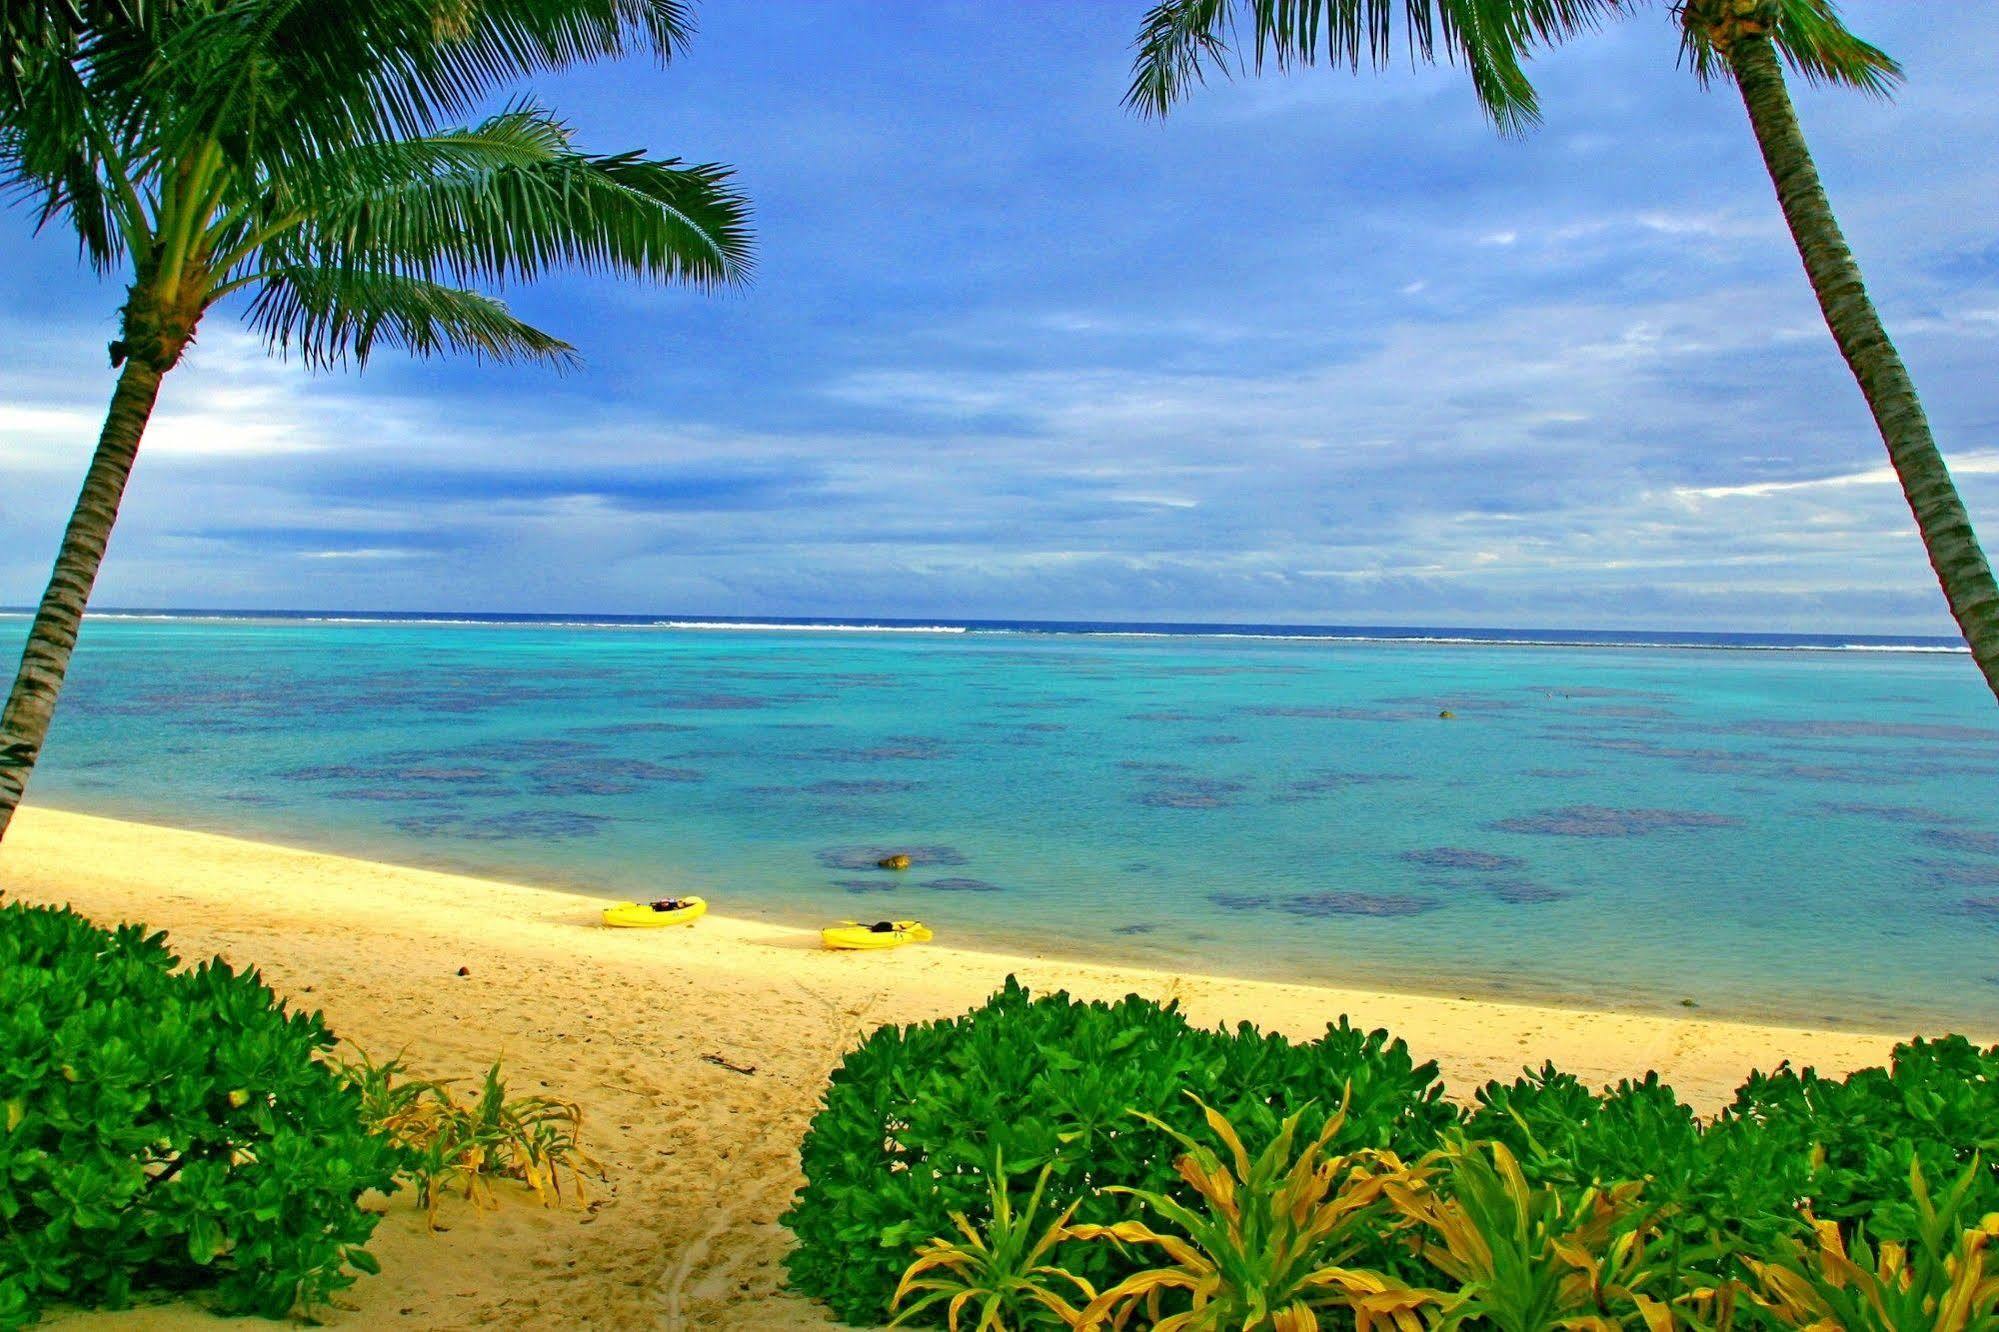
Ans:
[[[952,1212],[952,1224],[964,1238],[938,1236],[926,1240],[916,1250],[916,1262],[902,1274],[896,1286],[892,1308],[900,1326],[918,1314],[944,1304],[946,1322],[958,1332],[960,1316],[968,1306],[978,1310],[972,1332],[1023,1332],[1025,1328],[1073,1328],[1081,1314],[1063,1294],[1063,1284],[1089,1302],[1095,1288],[1081,1276],[1063,1272],[1047,1262],[1057,1244],[1069,1238],[1067,1224],[1075,1216],[1077,1202],[1071,1202],[1061,1216],[1049,1222],[1039,1234],[1033,1224],[1041,1212],[1041,1194],[1047,1190],[1047,1166],[1033,1182],[1027,1208],[1013,1212],[1007,1194],[1005,1160],[994,1160],[992,1172],[992,1218],[986,1232],[966,1220],[964,1212]],[[922,1296],[910,1308],[902,1302],[912,1294]]]

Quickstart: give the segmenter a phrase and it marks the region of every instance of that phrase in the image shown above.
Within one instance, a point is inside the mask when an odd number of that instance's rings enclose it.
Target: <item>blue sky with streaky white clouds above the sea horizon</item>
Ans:
[[[1521,140],[1449,68],[1139,120],[1141,8],[710,0],[668,70],[538,80],[590,148],[734,164],[756,280],[508,292],[566,376],[312,376],[218,310],[98,604],[1949,630],[1741,104],[1663,6],[1537,60]],[[1845,8],[1909,84],[1801,116],[1999,534],[1999,6]],[[0,266],[24,604],[118,292],[20,210]]]

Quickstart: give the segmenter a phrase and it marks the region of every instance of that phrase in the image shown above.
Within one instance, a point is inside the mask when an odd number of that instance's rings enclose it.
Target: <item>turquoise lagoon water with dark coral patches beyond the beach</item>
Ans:
[[[94,620],[30,794],[972,946],[1999,1028],[1955,654]]]

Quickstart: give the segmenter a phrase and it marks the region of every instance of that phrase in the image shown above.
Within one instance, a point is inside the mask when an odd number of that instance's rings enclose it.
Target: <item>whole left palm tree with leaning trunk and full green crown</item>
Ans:
[[[556,266],[696,284],[748,274],[720,166],[592,156],[532,70],[676,54],[678,0],[40,0],[0,26],[0,170],[126,280],[120,368],[0,714],[0,836],[48,736],[160,382],[220,302],[278,354],[568,362],[470,290]]]

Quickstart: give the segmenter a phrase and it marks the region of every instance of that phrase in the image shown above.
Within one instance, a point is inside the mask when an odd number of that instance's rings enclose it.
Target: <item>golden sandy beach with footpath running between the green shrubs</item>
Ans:
[[[892,954],[828,954],[810,932],[728,916],[694,930],[604,930],[602,902],[578,894],[46,808],[16,820],[0,888],[106,924],[144,920],[186,958],[258,966],[374,1056],[408,1048],[430,1074],[476,1076],[504,1054],[518,1088],[584,1104],[610,1174],[594,1208],[452,1204],[446,1230],[426,1234],[398,1196],[374,1244],[382,1276],[364,1278],[334,1318],[354,1328],[834,1326],[786,1292],[788,1236],[776,1224],[826,1074],[876,1024],[960,1012],[1007,972],[1035,990],[1177,998],[1195,1022],[1251,1020],[1291,1036],[1351,1014],[1435,1058],[1457,1094],[1555,1060],[1585,1080],[1659,1070],[1705,1112],[1753,1066],[1847,1070],[1893,1044],[1001,956],[952,948],[948,922],[938,944]],[[178,1306],[50,1322],[208,1318]]]

